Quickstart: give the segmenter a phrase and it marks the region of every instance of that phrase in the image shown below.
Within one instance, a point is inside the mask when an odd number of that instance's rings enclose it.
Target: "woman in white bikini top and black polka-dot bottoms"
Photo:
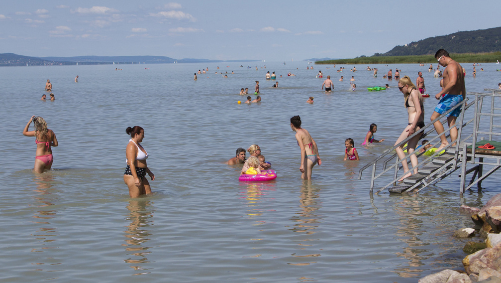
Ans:
[[[131,137],[125,150],[127,167],[124,173],[124,182],[129,187],[129,196],[136,198],[140,195],[151,194],[150,183],[145,176],[148,174],[153,181],[155,175],[146,166],[148,153],[139,144],[143,141],[144,129],[140,126],[127,127],[125,132]]]

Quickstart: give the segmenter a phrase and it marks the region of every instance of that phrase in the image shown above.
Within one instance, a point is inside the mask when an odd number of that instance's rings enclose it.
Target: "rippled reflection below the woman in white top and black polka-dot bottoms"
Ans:
[[[134,273],[133,275],[148,274],[149,270],[153,268],[143,267],[145,263],[149,263],[147,256],[151,253],[149,250],[151,247],[145,245],[145,243],[150,240],[152,235],[150,232],[150,226],[153,225],[153,202],[149,200],[130,200],[127,204],[127,209],[129,210],[129,216],[126,218],[130,221],[127,226],[128,229],[125,230],[124,236],[127,238],[125,242],[127,244],[122,244],[125,246],[127,251],[127,256],[124,259],[125,262],[132,264],[130,267],[134,270],[140,271],[139,273]]]

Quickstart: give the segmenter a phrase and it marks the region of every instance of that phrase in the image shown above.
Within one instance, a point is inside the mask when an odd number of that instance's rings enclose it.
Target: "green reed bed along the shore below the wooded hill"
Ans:
[[[501,60],[501,52],[493,53],[460,53],[450,54],[450,57],[460,63],[492,63]],[[358,57],[353,59],[337,59],[316,61],[315,64],[409,64],[409,63],[436,63],[433,55],[412,56],[374,56]]]

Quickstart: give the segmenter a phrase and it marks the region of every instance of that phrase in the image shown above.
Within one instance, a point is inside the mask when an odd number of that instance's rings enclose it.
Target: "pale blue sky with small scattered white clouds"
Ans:
[[[0,53],[290,61],[353,58],[500,26],[499,0],[3,0]]]

